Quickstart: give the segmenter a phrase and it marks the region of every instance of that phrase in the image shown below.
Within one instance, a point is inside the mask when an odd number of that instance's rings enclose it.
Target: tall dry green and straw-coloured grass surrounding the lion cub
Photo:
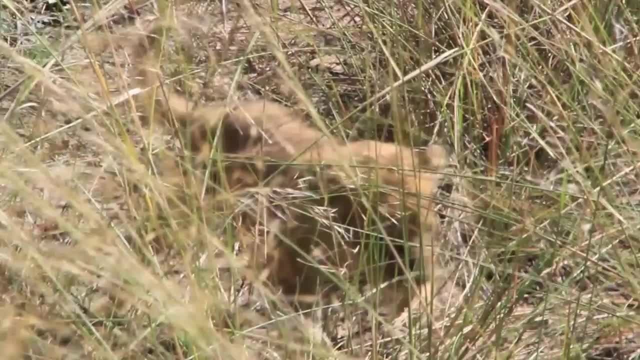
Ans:
[[[261,22],[242,9],[189,10],[209,22],[166,54],[165,78],[202,101],[282,101],[348,139],[449,143],[438,251],[456,271],[432,302],[446,321],[420,307],[392,337],[362,306],[303,317],[268,284],[249,291],[228,222],[202,208],[204,174],[122,96],[122,51],[72,38],[51,66],[53,42],[5,42],[0,63],[28,79],[0,99],[6,359],[639,356],[637,9],[256,2]],[[12,1],[0,13],[3,29],[28,24]]]

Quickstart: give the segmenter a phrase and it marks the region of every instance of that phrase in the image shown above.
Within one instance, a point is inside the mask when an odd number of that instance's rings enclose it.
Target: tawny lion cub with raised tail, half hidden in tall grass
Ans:
[[[152,87],[154,39],[138,45],[140,79]],[[275,102],[195,106],[164,93],[147,97],[147,106],[175,120],[196,158],[207,159],[214,144],[225,156],[219,180],[234,196],[209,200],[221,208],[242,199],[234,206],[237,236],[257,274],[287,295],[316,294],[342,279],[374,288],[391,282],[383,298],[392,313],[410,304],[410,288],[428,288],[438,270],[432,198],[449,158],[444,147],[344,142]]]

